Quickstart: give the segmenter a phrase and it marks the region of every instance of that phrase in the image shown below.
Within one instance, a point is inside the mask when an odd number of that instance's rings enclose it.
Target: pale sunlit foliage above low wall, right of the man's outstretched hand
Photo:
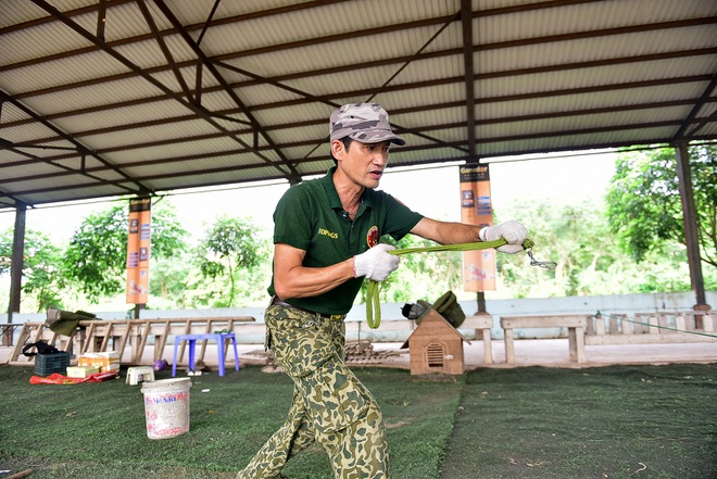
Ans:
[[[498,254],[498,290],[490,299],[551,298],[690,291],[685,248],[666,242],[637,263],[614,244],[605,206],[516,202],[502,214],[523,222],[536,242],[537,260],[557,263],[555,270],[530,266],[525,254]],[[705,270],[705,288],[717,287],[717,269]]]

